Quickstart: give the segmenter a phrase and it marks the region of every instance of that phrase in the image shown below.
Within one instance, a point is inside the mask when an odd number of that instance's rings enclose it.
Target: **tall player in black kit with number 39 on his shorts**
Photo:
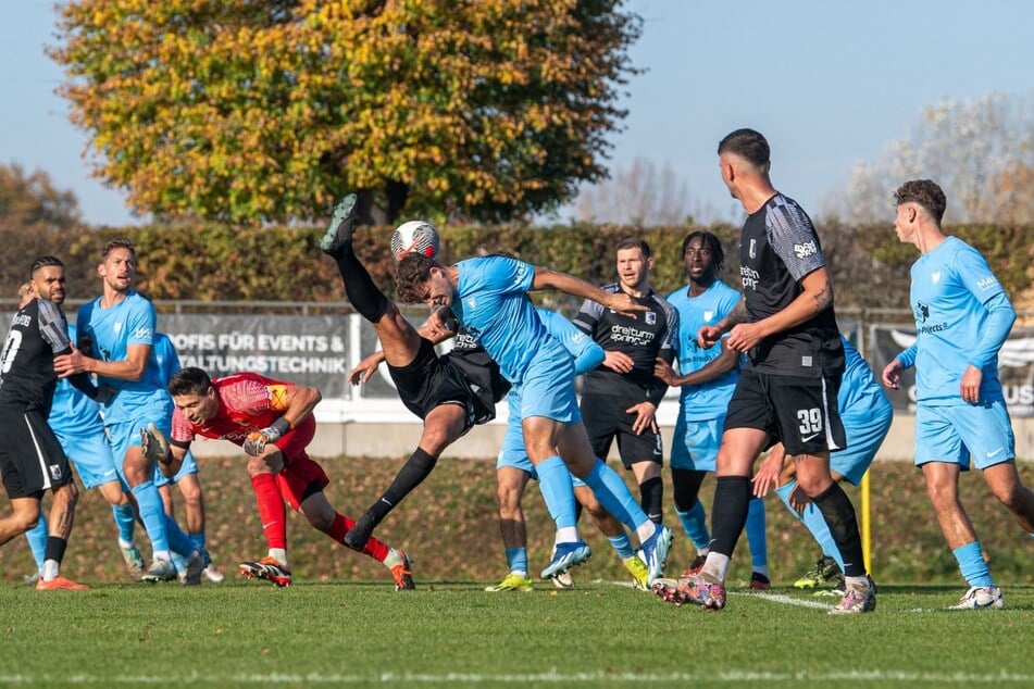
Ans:
[[[737,129],[719,143],[722,180],[747,211],[739,240],[744,299],[731,314],[700,328],[697,341],[726,346],[747,361],[733,391],[718,452],[711,550],[699,574],[661,582],[665,600],[725,606],[725,576],[750,501],[751,466],[783,442],[797,464],[801,491],[819,508],[844,558],[845,594],[833,613],[863,613],[876,593],[865,572],[855,508],[830,474],[830,451],[845,444],[836,409],[844,347],[833,285],[811,220],[769,178],[769,143]]]

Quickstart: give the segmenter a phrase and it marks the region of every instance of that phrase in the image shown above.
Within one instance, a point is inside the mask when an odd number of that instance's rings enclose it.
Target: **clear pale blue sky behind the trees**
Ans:
[[[141,222],[90,176],[85,135],[53,91],[61,71],[51,0],[5,3],[0,23],[0,163],[47,172],[94,225]],[[1034,90],[1034,2],[1024,0],[631,0],[646,70],[622,87],[628,110],[609,164],[670,164],[698,220],[738,205],[718,175],[718,141],[752,127],[772,148],[775,186],[812,211],[946,99]],[[561,216],[561,220],[566,217]]]

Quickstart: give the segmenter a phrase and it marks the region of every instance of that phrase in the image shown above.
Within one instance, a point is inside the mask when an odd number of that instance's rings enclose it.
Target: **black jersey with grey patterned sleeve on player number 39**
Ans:
[[[755,323],[788,306],[801,292],[800,279],[823,267],[825,259],[811,218],[796,201],[776,193],[744,223],[739,264],[747,313]],[[802,377],[843,372],[844,347],[833,305],[764,338],[748,352],[747,366]]]

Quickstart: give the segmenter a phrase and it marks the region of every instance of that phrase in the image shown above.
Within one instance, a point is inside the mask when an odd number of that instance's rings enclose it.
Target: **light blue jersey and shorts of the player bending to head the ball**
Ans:
[[[520,417],[545,416],[566,424],[582,419],[574,396],[574,361],[549,335],[527,290],[535,266],[504,256],[457,264],[452,312],[520,388]]]

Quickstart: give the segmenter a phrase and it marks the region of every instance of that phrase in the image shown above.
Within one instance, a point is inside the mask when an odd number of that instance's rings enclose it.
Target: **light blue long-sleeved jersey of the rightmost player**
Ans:
[[[1000,333],[1000,338],[999,334],[988,338],[987,325],[992,318],[988,304],[995,300],[1000,303],[1005,290],[987,261],[961,239],[948,237],[912,264],[911,276],[909,299],[917,339],[899,358],[906,365],[914,362],[917,401],[964,404],[960,384],[970,364],[984,374],[980,399],[1001,399],[998,349],[1008,329]],[[1000,308],[1012,309],[1007,299]]]

